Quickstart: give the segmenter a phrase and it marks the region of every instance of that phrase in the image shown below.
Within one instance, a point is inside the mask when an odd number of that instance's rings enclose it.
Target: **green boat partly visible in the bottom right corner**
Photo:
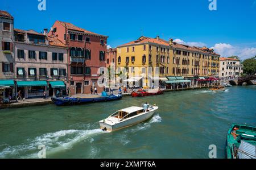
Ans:
[[[232,125],[226,138],[228,159],[256,159],[256,127]]]

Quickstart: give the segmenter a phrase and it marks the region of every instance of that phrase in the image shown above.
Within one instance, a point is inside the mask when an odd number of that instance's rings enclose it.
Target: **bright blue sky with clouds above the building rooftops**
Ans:
[[[71,22],[98,34],[108,35],[108,45],[127,43],[142,34],[189,45],[207,45],[222,56],[242,59],[256,55],[256,0],[0,0],[1,10],[15,18],[15,28],[42,31],[55,20]]]

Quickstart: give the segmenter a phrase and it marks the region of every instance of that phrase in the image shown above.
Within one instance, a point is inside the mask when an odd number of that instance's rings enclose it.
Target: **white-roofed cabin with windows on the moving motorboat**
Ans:
[[[115,117],[118,119],[123,119],[123,118],[130,118],[134,117],[135,115],[143,113],[143,108],[142,107],[128,107],[126,109],[118,110],[114,114],[112,114],[110,117]]]

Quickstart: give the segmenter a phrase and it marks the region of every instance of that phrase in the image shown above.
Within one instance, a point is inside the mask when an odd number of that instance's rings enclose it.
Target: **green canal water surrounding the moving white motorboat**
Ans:
[[[256,126],[256,86],[225,92],[194,90],[81,106],[33,106],[0,110],[0,158],[208,158],[209,146],[225,157],[233,122]],[[97,121],[118,109],[156,103],[144,123],[103,132]]]

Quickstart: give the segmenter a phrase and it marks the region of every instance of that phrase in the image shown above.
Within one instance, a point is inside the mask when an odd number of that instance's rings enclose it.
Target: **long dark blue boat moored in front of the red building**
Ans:
[[[107,102],[122,98],[122,94],[107,94],[102,92],[101,96],[85,96],[85,97],[52,97],[52,102],[57,106],[63,105],[80,105],[84,103]]]

